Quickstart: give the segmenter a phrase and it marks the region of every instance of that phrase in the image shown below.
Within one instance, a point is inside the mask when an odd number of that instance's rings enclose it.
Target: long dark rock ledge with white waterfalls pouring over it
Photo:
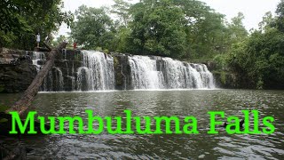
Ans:
[[[47,52],[3,49],[0,86],[4,92],[22,92],[43,67]],[[14,54],[12,56],[11,52]],[[18,57],[17,64],[12,65]],[[158,56],[63,50],[43,80],[43,92],[203,89],[214,88],[214,78],[204,64]]]

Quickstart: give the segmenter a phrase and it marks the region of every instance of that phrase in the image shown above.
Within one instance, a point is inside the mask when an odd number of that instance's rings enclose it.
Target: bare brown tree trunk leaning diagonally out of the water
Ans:
[[[44,77],[48,75],[48,72],[53,67],[57,53],[61,52],[61,50],[66,47],[66,45],[67,43],[59,44],[56,49],[52,49],[51,52],[49,52],[46,63],[44,64],[43,68],[37,73],[32,84],[28,86],[28,89],[21,96],[20,100],[16,101],[12,108],[9,108],[5,111],[6,113],[9,113],[10,111],[18,111],[19,115],[22,115],[27,110],[28,106],[36,97],[39,87],[43,83]]]

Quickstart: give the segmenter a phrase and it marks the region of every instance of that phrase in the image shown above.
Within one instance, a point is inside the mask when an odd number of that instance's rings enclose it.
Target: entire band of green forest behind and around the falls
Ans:
[[[54,46],[67,39],[83,49],[159,55],[193,62],[213,62],[221,73],[233,73],[245,88],[283,89],[284,0],[275,16],[264,15],[249,32],[240,12],[232,20],[196,0],[114,0],[111,7],[79,6],[63,12],[61,0],[0,2],[0,46],[33,50],[35,36]],[[69,36],[52,35],[61,23]]]

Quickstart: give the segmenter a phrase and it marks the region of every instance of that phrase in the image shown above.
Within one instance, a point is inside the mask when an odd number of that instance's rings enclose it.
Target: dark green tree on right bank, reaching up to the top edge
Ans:
[[[273,18],[272,13],[267,12],[260,22],[259,30],[233,44],[227,63],[233,72],[242,80],[245,79],[244,84],[248,85],[244,87],[284,88],[283,6],[282,0],[276,10],[276,17]],[[236,21],[240,24],[240,20]]]

